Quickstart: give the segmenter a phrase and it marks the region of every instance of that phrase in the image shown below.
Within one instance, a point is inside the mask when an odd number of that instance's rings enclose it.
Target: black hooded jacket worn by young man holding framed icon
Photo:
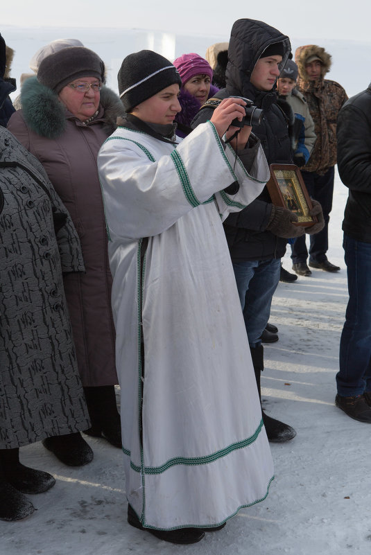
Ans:
[[[263,21],[236,21],[228,49],[227,86],[216,94],[216,98],[243,96],[264,109],[264,118],[259,125],[253,125],[252,132],[260,139],[268,164],[292,164],[288,122],[282,109],[277,106],[277,95],[273,90],[259,91],[250,82],[252,70],[261,55],[270,44],[277,42],[282,42],[284,46],[280,64],[283,68],[291,51],[288,37]],[[192,127],[209,119],[211,114],[212,108],[202,108],[194,118]],[[268,260],[284,256],[287,240],[266,231],[271,213],[272,203],[265,187],[257,200],[225,220],[225,234],[233,261]]]

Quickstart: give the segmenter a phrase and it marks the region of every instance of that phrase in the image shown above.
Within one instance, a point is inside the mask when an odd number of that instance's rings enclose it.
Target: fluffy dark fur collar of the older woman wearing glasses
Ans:
[[[36,76],[24,82],[21,89],[21,107],[28,127],[47,139],[57,139],[62,135],[66,128],[66,119],[74,117],[67,112],[58,95],[42,85]],[[110,135],[117,128],[117,116],[123,114],[125,110],[119,96],[103,86],[98,116],[88,125],[103,121],[103,129]]]

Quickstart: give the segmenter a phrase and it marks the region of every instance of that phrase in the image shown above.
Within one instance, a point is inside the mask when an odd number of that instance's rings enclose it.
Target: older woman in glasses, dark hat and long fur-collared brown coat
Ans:
[[[42,60],[37,77],[25,82],[22,109],[8,129],[41,161],[80,236],[86,272],[65,275],[64,289],[92,421],[89,433],[121,447],[112,277],[96,159],[123,107],[102,82],[104,64],[89,49],[53,53]]]

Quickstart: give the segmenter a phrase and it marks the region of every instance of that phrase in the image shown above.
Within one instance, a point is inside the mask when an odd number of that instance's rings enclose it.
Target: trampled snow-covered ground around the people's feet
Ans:
[[[338,344],[347,301],[341,221],[347,189],[336,178],[329,260],[338,274],[279,283],[270,321],[279,342],[266,346],[266,412],[297,430],[271,444],[275,480],[264,502],[243,509],[225,529],[193,546],[175,546],[130,527],[119,449],[88,438],[94,461],[59,463],[38,443],[21,461],[57,479],[29,495],[38,509],[21,522],[0,521],[1,555],[343,555],[371,550],[370,427],[334,406]],[[291,268],[286,254],[285,267]]]

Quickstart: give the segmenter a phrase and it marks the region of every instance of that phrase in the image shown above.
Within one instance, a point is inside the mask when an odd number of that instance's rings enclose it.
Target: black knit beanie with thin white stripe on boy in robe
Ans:
[[[170,85],[182,86],[180,75],[169,60],[152,50],[129,54],[117,75],[119,94],[126,112]]]

